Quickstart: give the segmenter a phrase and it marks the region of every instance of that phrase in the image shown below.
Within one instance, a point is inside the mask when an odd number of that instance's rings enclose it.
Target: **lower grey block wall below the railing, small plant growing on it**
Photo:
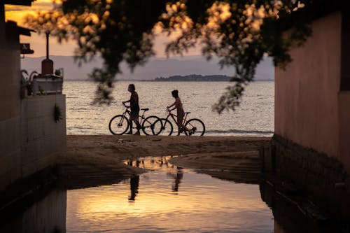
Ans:
[[[55,122],[55,104],[62,120]],[[22,100],[22,176],[55,164],[57,153],[66,149],[66,98],[62,94]]]

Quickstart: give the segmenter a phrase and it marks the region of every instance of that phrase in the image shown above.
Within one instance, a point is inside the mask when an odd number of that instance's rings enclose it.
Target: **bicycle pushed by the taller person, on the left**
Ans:
[[[130,111],[128,109],[130,107],[126,106],[125,104],[123,105],[125,106],[124,113],[121,115],[115,115],[109,121],[109,131],[112,134],[116,134],[116,135],[125,134],[125,132],[127,132],[127,129],[129,129],[130,127],[130,121],[126,117],[127,114],[130,116]],[[145,113],[146,111],[149,110],[149,108],[141,108],[140,110],[144,111],[142,115],[139,115],[139,118],[141,118],[141,121],[140,121],[141,129],[144,132],[144,134],[152,135],[153,124],[155,121],[159,120],[160,118],[158,118],[158,116],[155,116],[155,115],[150,115],[147,118],[145,118]],[[137,128],[137,127],[134,127],[134,128]]]

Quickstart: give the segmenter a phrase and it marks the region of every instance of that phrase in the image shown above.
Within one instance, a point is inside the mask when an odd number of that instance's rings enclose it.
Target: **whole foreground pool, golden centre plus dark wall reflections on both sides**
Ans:
[[[222,181],[168,160],[127,160],[152,171],[111,185],[52,190],[2,218],[0,232],[341,232],[327,219],[305,216],[269,185]]]

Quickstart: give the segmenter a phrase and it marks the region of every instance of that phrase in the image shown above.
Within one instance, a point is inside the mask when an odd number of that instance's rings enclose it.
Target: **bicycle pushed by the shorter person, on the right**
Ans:
[[[171,117],[177,126],[176,121],[176,115],[172,113],[172,111],[168,111],[167,118],[160,118],[159,120],[156,120],[153,124],[153,134],[154,135],[167,135],[170,136],[173,133],[174,127],[172,125],[172,122],[170,122],[169,117]],[[193,118],[190,120],[186,120],[190,112],[186,112],[183,117],[183,125],[186,129],[181,129],[181,132],[185,132],[186,135],[196,135],[196,136],[203,136],[205,132],[205,125],[202,122],[202,120]]]

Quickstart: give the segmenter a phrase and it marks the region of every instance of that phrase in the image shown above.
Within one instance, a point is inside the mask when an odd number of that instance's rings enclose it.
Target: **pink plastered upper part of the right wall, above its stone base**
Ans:
[[[313,36],[290,52],[293,62],[286,71],[275,70],[275,134],[335,157],[339,157],[341,22],[339,12],[314,21]]]

